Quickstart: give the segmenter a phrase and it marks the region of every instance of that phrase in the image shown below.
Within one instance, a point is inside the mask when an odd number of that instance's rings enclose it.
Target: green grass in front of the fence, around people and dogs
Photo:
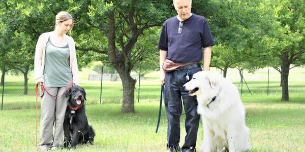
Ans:
[[[303,101],[299,98],[299,101],[288,103],[279,102],[275,97],[256,98],[256,102],[244,99],[247,108],[246,121],[251,130],[252,151],[303,151],[305,148]],[[88,121],[97,134],[95,145],[77,146],[76,151],[165,150],[167,121],[164,108],[158,134],[155,133],[157,102],[137,103],[136,113],[123,114],[120,108],[120,104],[87,105]],[[0,111],[0,116],[3,122],[0,125],[0,151],[35,150],[34,109],[4,110]],[[184,117],[181,117],[181,144],[185,136],[183,124]],[[200,124],[197,147],[200,146],[202,135]]]

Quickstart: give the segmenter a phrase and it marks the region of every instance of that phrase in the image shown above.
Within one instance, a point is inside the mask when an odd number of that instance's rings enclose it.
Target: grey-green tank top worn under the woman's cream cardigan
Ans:
[[[69,64],[70,50],[67,44],[56,47],[50,37],[46,45],[45,67],[43,71],[46,87],[65,87],[72,80],[72,71]]]

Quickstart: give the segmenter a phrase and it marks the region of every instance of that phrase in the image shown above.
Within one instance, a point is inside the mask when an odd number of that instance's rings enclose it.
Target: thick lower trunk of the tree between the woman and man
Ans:
[[[135,85],[136,80],[130,77],[129,74],[119,73],[123,85],[123,105],[121,112],[135,112]]]

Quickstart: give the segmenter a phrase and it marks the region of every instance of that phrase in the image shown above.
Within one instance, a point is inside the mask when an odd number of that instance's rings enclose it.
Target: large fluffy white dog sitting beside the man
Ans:
[[[251,149],[245,107],[237,88],[220,74],[200,71],[184,85],[197,96],[203,123],[200,151],[247,151]]]

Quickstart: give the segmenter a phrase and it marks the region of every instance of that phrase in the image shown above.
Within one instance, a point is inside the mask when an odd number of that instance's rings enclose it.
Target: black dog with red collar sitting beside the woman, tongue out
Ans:
[[[85,115],[86,92],[82,87],[73,86],[66,92],[68,106],[64,121],[65,142],[64,147],[75,148],[78,143],[93,144],[95,132],[88,125]]]

